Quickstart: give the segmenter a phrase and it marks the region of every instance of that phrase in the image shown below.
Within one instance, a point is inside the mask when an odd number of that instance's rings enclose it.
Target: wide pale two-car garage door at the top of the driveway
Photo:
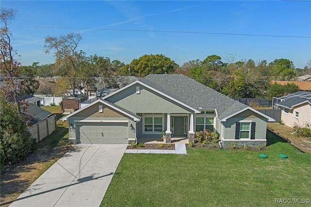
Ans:
[[[128,122],[84,122],[76,124],[77,143],[128,143]]]

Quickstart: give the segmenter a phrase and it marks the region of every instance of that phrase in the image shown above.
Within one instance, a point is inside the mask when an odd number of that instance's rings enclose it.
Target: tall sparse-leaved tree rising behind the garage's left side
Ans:
[[[76,33],[69,33],[61,36],[48,36],[45,39],[45,52],[54,51],[56,58],[56,69],[64,69],[65,75],[70,72],[73,74],[72,95],[75,96],[77,71],[85,59],[85,52],[77,51],[82,36]],[[57,66],[58,65],[58,66]]]

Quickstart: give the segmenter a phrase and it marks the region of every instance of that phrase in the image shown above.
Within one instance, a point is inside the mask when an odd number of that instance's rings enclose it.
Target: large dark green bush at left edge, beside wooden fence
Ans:
[[[0,160],[1,169],[9,162],[24,158],[36,147],[26,123],[12,104],[0,99]]]

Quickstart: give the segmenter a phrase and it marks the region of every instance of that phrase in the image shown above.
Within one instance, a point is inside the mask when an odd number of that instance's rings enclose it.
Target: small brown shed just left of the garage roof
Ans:
[[[69,114],[78,110],[79,108],[81,108],[80,104],[87,99],[88,97],[86,95],[81,94],[77,94],[76,96],[64,97],[62,101],[62,113]]]

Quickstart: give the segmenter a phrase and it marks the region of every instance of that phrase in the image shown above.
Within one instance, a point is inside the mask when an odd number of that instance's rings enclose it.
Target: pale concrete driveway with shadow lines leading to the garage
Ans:
[[[77,144],[10,207],[98,207],[125,149],[123,144]]]

